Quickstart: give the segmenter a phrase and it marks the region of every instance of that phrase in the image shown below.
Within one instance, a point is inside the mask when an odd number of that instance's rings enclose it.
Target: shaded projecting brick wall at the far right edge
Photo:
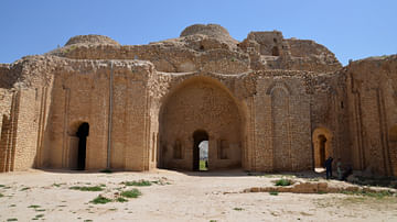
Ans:
[[[353,62],[345,73],[354,167],[397,175],[397,56]]]

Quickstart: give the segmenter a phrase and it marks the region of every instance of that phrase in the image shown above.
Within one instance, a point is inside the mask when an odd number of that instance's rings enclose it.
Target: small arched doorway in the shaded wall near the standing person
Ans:
[[[328,157],[333,156],[332,133],[326,127],[313,131],[312,143],[314,149],[314,168],[323,168]]]

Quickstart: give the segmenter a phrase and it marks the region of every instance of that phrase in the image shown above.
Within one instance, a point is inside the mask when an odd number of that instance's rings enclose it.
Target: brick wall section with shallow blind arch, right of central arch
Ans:
[[[305,73],[257,73],[253,113],[255,169],[297,171],[312,166]]]

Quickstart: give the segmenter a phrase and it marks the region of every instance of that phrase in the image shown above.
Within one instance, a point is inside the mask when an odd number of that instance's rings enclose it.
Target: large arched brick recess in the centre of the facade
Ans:
[[[242,116],[218,80],[192,77],[181,82],[164,99],[159,123],[159,167],[196,170],[195,132],[207,134],[210,170],[242,167]]]

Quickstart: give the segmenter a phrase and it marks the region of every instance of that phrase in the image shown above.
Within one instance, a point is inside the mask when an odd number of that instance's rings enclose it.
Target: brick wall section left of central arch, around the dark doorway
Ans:
[[[79,140],[76,132],[86,122],[89,124],[86,169],[107,168],[108,162],[114,169],[148,169],[142,147],[147,147],[149,127],[146,79],[152,71],[151,65],[132,60],[65,62],[69,68],[58,67],[54,74],[50,141],[44,151],[50,155],[44,157],[43,165],[76,168]]]

